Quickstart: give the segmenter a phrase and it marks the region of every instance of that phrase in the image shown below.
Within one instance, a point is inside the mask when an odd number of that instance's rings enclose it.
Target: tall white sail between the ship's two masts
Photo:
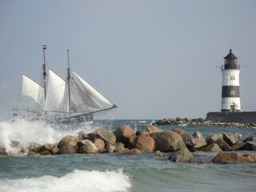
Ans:
[[[49,70],[46,103],[43,110],[68,112],[67,83],[52,70]]]

